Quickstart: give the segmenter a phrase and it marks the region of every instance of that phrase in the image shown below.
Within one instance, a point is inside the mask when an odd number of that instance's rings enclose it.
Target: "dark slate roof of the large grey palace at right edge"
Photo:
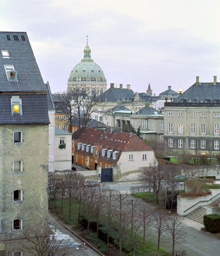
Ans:
[[[206,99],[209,99],[210,103],[213,103],[214,100],[218,99],[220,102],[220,83],[216,83],[216,85],[213,85],[213,83],[200,83],[196,85],[194,83],[172,103],[179,103],[182,99],[185,99],[185,102],[198,100],[198,103],[205,103]]]

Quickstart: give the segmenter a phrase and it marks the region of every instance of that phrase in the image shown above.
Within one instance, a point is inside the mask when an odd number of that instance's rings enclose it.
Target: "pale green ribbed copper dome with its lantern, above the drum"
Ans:
[[[93,61],[93,59],[91,59],[91,50],[88,46],[88,42],[86,43],[83,52],[84,58],[72,69],[69,81],[106,82],[103,70]]]

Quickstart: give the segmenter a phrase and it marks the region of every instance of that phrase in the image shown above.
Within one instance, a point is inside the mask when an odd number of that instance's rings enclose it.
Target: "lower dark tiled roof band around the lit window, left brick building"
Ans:
[[[46,93],[15,94],[22,100],[22,115],[11,113],[11,94],[0,94],[0,124],[49,124]]]

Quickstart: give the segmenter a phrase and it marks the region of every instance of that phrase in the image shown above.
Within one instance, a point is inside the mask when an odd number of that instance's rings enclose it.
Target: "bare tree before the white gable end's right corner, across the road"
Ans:
[[[146,186],[151,186],[154,194],[156,195],[156,203],[159,204],[159,192],[163,189],[163,178],[166,168],[161,161],[154,161],[149,167],[143,167],[139,174],[140,180],[142,180]]]

